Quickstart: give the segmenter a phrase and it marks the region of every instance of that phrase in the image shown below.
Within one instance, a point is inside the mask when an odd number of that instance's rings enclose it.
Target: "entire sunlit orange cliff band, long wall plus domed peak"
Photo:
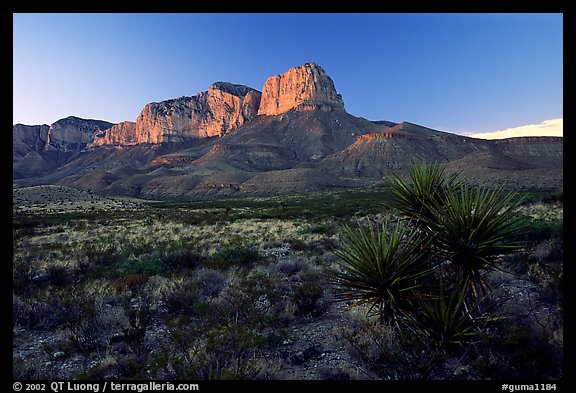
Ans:
[[[334,82],[315,63],[268,78],[263,93],[243,85],[216,82],[193,97],[147,104],[136,123],[124,122],[93,138],[91,146],[157,144],[223,136],[258,115],[344,109]]]

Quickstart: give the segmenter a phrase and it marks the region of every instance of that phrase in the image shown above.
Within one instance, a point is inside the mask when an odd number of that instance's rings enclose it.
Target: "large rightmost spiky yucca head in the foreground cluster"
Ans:
[[[522,248],[515,240],[524,222],[519,203],[516,192],[462,183],[444,195],[442,205],[430,205],[424,221],[433,243],[475,297],[488,289],[483,272],[498,269],[501,256]]]

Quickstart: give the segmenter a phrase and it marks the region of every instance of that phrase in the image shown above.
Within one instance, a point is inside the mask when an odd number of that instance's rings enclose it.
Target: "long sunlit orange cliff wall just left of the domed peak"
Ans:
[[[153,102],[136,119],[136,143],[221,136],[253,119],[259,104],[260,92],[226,82],[193,97]]]

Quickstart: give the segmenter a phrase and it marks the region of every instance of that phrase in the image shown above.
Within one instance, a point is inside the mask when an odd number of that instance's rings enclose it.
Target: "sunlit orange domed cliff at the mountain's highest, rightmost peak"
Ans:
[[[259,115],[279,115],[291,109],[300,111],[344,109],[334,82],[316,63],[306,63],[271,76],[262,88]]]

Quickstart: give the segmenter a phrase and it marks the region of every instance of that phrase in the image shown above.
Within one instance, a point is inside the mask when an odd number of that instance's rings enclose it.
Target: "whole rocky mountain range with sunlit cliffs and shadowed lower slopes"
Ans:
[[[227,82],[147,104],[118,124],[67,118],[13,127],[14,182],[103,195],[214,196],[367,187],[414,159],[470,180],[527,188],[563,181],[562,138],[480,140],[346,112],[316,63],[269,77],[262,92]]]

